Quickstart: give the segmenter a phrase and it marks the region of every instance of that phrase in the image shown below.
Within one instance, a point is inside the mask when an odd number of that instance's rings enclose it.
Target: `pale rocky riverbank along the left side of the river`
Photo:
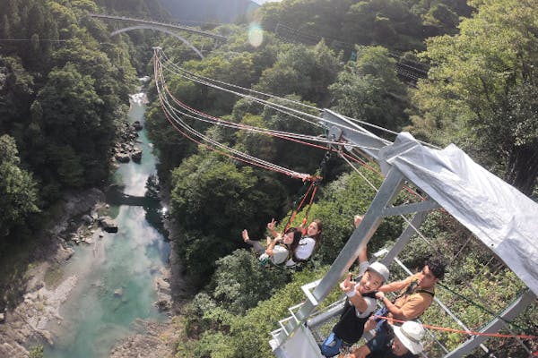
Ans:
[[[59,277],[58,268],[74,254],[68,241],[79,232],[82,215],[103,200],[103,192],[91,189],[68,193],[59,203],[56,225],[46,230],[44,235],[48,237],[40,241],[47,243],[47,247],[39,248],[36,253],[42,260],[31,263],[25,274],[27,281],[18,283],[25,286],[23,301],[13,310],[5,311],[5,321],[0,324],[0,357],[28,357],[24,346],[30,341],[53,343],[45,326],[50,320],[62,320],[60,305],[67,300],[78,279],[76,275]]]

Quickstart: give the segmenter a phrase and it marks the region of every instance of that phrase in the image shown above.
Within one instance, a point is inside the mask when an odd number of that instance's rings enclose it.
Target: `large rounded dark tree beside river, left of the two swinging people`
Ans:
[[[201,284],[211,276],[214,261],[242,243],[241,230],[267,222],[281,205],[278,195],[266,192],[265,184],[258,183],[250,166],[238,168],[228,158],[207,151],[174,169],[170,215],[182,233],[180,254]]]

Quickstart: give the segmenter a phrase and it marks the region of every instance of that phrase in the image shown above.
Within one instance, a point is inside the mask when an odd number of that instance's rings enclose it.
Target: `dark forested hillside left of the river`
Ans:
[[[157,3],[137,4],[151,7]],[[138,7],[146,9],[145,5]],[[3,3],[0,18],[0,258],[4,272],[0,305],[3,307],[6,302],[13,304],[21,298],[13,291],[23,288],[19,280],[36,249],[39,251],[43,245],[41,250],[47,251],[48,242],[39,238],[46,236],[42,231],[49,224],[57,200],[66,192],[81,192],[108,180],[112,148],[125,121],[128,94],[137,84],[133,64],[140,65],[131,62],[135,54],[131,40],[110,38],[106,26],[88,16],[101,11],[92,2],[9,0]],[[4,264],[12,266],[4,268]]]

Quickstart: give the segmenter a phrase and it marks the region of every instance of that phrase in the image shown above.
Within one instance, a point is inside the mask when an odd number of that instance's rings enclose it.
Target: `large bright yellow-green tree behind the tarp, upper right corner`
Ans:
[[[520,191],[538,175],[538,39],[533,1],[473,1],[478,13],[460,34],[431,38],[434,67],[414,96],[414,127],[456,141]],[[445,132],[445,137],[438,136]]]

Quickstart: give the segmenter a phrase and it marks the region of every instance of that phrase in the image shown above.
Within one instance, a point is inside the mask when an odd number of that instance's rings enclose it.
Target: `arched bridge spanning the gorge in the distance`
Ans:
[[[182,41],[184,44],[186,44],[188,47],[190,47],[197,55],[199,55],[201,58],[204,58],[204,55],[202,55],[202,52],[193,46],[187,38],[183,38],[181,35],[179,35],[176,31],[186,31],[188,33],[196,34],[196,35],[202,35],[208,38],[214,38],[215,41],[227,41],[228,38],[210,31],[204,31],[199,30],[195,28],[191,28],[188,26],[182,26],[177,23],[171,23],[171,22],[161,22],[161,21],[153,21],[153,20],[145,20],[145,19],[137,19],[133,17],[126,17],[126,16],[116,16],[116,15],[108,15],[106,13],[90,13],[91,17],[99,18],[99,19],[106,19],[106,20],[117,20],[117,21],[125,21],[134,23],[134,26],[129,26],[123,29],[114,30],[110,33],[110,36],[116,36],[122,32],[131,31],[131,30],[156,30],[161,31],[166,34],[169,34],[170,36],[173,36],[175,38],[178,38],[180,41]],[[175,31],[176,30],[176,31]]]

